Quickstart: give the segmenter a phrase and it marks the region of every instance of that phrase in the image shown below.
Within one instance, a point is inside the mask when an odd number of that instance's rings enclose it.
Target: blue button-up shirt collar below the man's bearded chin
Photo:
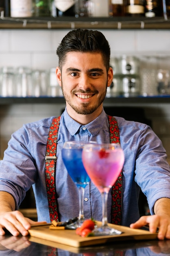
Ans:
[[[68,115],[66,108],[63,115],[65,126],[72,136],[75,135],[76,132],[78,132],[81,126],[85,126],[92,136],[96,136],[98,132],[102,129],[103,124],[106,121],[106,113],[104,110],[102,110],[101,114],[96,119],[86,125],[79,124],[74,119],[72,119],[72,117]]]

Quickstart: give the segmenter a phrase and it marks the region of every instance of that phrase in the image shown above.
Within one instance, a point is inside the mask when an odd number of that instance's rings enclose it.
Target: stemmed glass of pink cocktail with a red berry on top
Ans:
[[[121,231],[109,227],[107,220],[108,193],[124,164],[124,152],[120,144],[86,144],[82,160],[91,181],[102,195],[102,225],[94,229],[94,234],[121,234]]]

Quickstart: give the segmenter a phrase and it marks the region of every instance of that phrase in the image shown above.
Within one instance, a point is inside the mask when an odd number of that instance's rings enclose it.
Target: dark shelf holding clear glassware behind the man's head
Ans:
[[[10,104],[65,104],[63,97],[0,97],[0,105]],[[152,96],[152,97],[110,97],[105,98],[104,104],[150,104],[150,103],[170,103],[170,95],[167,96]]]

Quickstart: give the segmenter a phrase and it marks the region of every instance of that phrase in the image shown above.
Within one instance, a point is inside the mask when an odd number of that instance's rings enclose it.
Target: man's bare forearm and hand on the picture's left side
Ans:
[[[28,229],[37,222],[25,218],[20,211],[15,211],[15,200],[7,192],[0,191],[0,235],[5,234],[4,228],[13,236],[28,235]],[[44,222],[43,222],[44,223]]]

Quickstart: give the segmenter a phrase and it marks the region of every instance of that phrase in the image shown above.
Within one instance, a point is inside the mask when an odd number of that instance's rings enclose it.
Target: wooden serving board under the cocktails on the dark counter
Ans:
[[[81,237],[76,234],[75,230],[52,230],[49,225],[37,225],[29,229],[29,234],[32,237],[41,238],[51,242],[68,245],[72,247],[84,247],[89,245],[98,245],[110,243],[118,240],[151,240],[156,239],[157,234],[152,234],[149,231],[141,229],[131,229],[129,227],[109,224],[110,227],[118,229],[123,233],[120,235],[111,236],[89,236]]]

